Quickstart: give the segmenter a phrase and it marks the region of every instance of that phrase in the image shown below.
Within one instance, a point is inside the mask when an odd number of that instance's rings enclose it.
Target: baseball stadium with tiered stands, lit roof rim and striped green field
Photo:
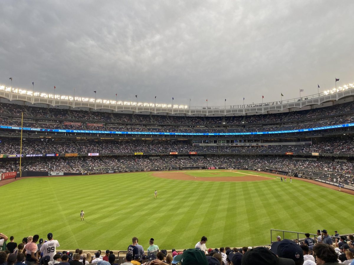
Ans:
[[[353,84],[207,109],[5,86],[0,96],[2,213],[31,216],[2,223],[16,238],[51,232],[62,249],[126,251],[134,236],[186,249],[201,236],[248,247],[352,232],[350,218],[323,216],[353,200]]]

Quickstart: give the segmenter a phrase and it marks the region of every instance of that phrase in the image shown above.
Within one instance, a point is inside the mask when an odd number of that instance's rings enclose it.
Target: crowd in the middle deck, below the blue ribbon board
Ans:
[[[319,140],[318,140],[319,141]],[[193,146],[188,141],[52,141],[44,139],[24,139],[22,142],[22,154],[47,154],[47,153],[104,153],[104,154],[125,154],[143,152],[169,153],[178,152],[188,154],[198,153],[267,153],[285,154],[291,152],[296,155],[320,154],[354,154],[353,139],[325,139],[312,145],[240,145],[240,146]],[[0,154],[19,154],[20,143],[13,140],[2,140],[0,143]]]

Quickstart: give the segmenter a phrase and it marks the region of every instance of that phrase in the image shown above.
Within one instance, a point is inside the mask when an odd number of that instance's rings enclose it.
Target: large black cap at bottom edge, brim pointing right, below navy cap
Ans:
[[[294,265],[292,259],[278,258],[272,251],[265,247],[256,247],[247,251],[241,260],[241,265]]]

